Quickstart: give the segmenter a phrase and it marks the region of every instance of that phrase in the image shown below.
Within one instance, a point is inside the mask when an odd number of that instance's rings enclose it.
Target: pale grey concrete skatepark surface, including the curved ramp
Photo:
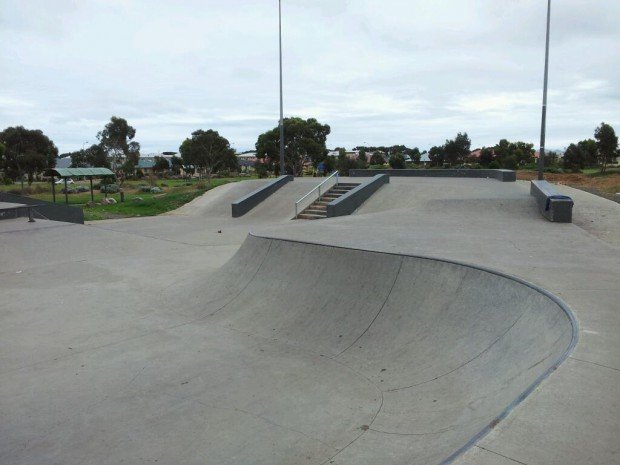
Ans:
[[[290,220],[316,183],[0,221],[0,463],[620,463],[619,204],[392,178]]]

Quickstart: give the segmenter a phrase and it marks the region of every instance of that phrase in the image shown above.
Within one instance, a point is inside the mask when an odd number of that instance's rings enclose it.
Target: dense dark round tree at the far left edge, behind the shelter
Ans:
[[[58,149],[39,129],[8,127],[0,132],[0,143],[5,147],[0,166],[13,180],[27,174],[32,184],[35,173],[56,166]]]

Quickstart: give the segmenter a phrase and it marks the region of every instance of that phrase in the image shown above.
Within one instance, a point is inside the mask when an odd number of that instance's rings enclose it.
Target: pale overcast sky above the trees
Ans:
[[[282,0],[285,116],[328,146],[538,146],[545,0]],[[553,0],[547,147],[620,132],[620,2]],[[62,152],[112,115],[142,153],[277,125],[277,0],[0,0],[0,129]]]

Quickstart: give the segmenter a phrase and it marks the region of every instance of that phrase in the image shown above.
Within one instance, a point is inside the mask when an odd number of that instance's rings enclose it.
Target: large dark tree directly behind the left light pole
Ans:
[[[329,125],[314,118],[284,118],[284,169],[288,174],[301,176],[307,163],[317,166],[327,154],[325,142],[331,132]],[[280,163],[280,129],[275,127],[256,141],[256,157],[264,160],[271,170]]]

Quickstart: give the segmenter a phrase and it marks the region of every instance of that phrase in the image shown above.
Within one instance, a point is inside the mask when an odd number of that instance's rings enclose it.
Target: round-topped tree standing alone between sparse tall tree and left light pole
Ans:
[[[238,169],[235,150],[217,131],[199,129],[185,139],[179,148],[184,165],[193,165],[211,182],[211,176],[221,169]]]

